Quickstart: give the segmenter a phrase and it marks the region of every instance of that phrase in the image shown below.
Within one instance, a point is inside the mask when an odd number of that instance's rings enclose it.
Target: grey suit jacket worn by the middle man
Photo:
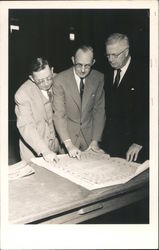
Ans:
[[[53,112],[56,130],[64,142],[70,138],[76,145],[82,132],[87,145],[101,140],[105,123],[105,95],[103,74],[92,70],[86,77],[81,103],[73,68],[54,78]]]

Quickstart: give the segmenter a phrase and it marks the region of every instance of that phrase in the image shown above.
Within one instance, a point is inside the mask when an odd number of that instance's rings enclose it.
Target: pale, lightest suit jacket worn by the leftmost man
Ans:
[[[50,139],[53,139],[54,151],[57,151],[58,141],[54,128],[53,134],[50,133],[43,98],[40,89],[31,80],[22,84],[15,94],[17,127],[22,137],[19,140],[20,155],[26,161],[36,154],[48,152]]]

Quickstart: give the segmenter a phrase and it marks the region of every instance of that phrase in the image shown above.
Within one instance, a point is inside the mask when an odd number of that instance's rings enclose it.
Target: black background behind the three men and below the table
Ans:
[[[71,7],[71,6],[70,6]],[[149,78],[149,10],[146,9],[10,9],[9,25],[9,164],[20,160],[18,130],[14,113],[14,94],[27,79],[34,56],[48,59],[55,72],[71,64],[73,48],[88,43],[95,50],[94,68],[105,72],[104,42],[109,34],[125,33],[131,55],[147,69]],[[69,33],[75,33],[75,41]],[[148,99],[147,99],[148,102]],[[148,200],[110,213],[88,223],[148,223]]]

